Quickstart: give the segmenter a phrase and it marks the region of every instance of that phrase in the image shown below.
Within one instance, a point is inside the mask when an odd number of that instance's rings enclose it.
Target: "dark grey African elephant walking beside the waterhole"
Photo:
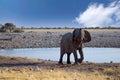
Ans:
[[[73,33],[66,33],[62,36],[60,43],[60,59],[59,64],[63,64],[63,55],[67,53],[67,64],[71,64],[70,62],[70,54],[73,53],[75,64],[82,63],[83,56],[83,43],[91,41],[91,35],[88,31],[83,29],[75,29]],[[79,50],[80,59],[77,57],[77,50]]]

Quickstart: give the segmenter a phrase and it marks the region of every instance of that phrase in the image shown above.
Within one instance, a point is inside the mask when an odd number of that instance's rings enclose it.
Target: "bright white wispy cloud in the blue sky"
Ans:
[[[103,4],[91,4],[75,21],[87,27],[120,26],[120,0],[106,7]]]

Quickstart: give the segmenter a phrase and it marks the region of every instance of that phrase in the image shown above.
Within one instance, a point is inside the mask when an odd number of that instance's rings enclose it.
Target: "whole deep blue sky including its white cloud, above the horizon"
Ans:
[[[120,0],[0,0],[0,24],[12,22],[25,27],[119,26],[119,5]]]

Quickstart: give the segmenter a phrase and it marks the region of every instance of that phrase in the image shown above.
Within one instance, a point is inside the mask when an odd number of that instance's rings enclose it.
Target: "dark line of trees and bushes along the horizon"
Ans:
[[[13,23],[5,23],[4,25],[0,24],[0,32],[24,32],[24,29],[74,29],[74,27],[31,27],[26,28],[22,26],[21,28],[17,28]],[[120,27],[83,27],[83,29],[120,29]]]

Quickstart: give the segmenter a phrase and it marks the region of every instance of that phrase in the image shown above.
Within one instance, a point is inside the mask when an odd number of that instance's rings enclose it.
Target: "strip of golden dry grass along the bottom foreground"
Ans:
[[[48,70],[40,71],[5,71],[0,73],[2,80],[112,80],[111,77],[101,75],[99,72],[82,73],[64,70]]]

